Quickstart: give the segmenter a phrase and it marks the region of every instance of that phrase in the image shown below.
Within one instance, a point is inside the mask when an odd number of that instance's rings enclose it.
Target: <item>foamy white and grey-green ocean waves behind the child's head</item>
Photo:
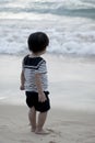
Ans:
[[[94,56],[95,0],[0,0],[0,54],[27,53],[35,31],[48,34],[48,53]]]

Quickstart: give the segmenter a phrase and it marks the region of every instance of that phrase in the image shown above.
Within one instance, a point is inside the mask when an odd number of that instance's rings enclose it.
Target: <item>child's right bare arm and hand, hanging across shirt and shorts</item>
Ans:
[[[37,86],[37,91],[38,91],[38,100],[40,102],[44,102],[47,100],[44,91],[43,91],[43,88],[41,88],[41,74],[35,74],[35,84]]]

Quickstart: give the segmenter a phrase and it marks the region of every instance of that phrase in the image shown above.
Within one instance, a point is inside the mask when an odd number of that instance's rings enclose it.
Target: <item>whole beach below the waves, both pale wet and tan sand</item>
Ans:
[[[31,132],[24,91],[20,91],[21,56],[0,58],[0,143],[95,143],[95,59],[45,55],[51,110],[48,135]]]

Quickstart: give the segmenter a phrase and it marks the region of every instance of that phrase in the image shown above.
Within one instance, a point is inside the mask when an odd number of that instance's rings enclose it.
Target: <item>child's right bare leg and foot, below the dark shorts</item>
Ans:
[[[46,118],[47,118],[47,112],[39,112],[39,114],[38,114],[38,123],[37,123],[37,128],[36,128],[35,133],[39,133],[39,134],[45,133],[43,131],[43,127],[45,124]]]

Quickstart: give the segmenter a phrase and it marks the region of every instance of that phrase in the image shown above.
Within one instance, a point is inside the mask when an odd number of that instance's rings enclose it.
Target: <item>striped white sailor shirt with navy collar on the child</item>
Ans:
[[[35,74],[39,73],[43,91],[48,90],[46,61],[43,57],[25,56],[23,59],[23,72],[25,77],[25,91],[36,91]]]

